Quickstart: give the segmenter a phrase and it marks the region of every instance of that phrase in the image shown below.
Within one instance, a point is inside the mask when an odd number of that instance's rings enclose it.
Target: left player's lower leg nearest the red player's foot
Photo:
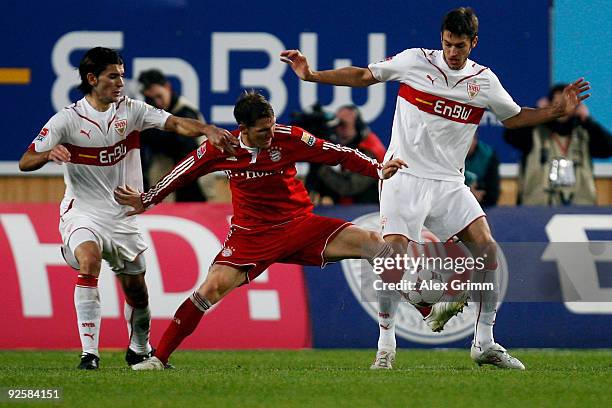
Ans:
[[[139,256],[134,262],[126,262],[124,270],[117,274],[117,278],[125,294],[123,314],[130,340],[125,361],[132,366],[151,357],[153,351],[149,343],[151,310],[145,282],[144,258]]]

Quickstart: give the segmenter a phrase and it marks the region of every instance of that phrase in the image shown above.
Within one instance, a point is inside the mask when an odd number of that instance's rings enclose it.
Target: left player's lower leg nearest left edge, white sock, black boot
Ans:
[[[75,244],[79,242],[80,238],[88,238],[80,237],[80,231],[91,234],[91,232],[84,229],[77,230],[71,237]],[[74,267],[75,265],[72,261],[76,259],[79,266],[79,275],[77,276],[74,288],[74,307],[76,309],[79,337],[83,351],[77,368],[81,370],[96,370],[100,367],[98,344],[102,312],[100,292],[98,291],[98,276],[100,274],[102,254],[96,242],[90,240],[81,240],[80,242],[74,250],[73,259],[70,259],[73,254],[71,247],[64,247],[63,251],[69,265]]]

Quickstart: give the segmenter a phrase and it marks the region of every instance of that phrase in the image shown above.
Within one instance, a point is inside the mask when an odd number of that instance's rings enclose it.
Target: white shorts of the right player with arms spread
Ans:
[[[383,236],[421,242],[425,226],[445,242],[485,215],[470,188],[459,181],[397,173],[381,184],[380,194]]]

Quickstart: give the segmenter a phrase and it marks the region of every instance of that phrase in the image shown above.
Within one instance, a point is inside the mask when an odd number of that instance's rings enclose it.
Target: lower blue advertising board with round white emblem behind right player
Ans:
[[[376,206],[317,213],[377,229]],[[506,347],[612,347],[612,209],[494,208],[487,219],[505,259],[496,339]],[[376,347],[376,303],[362,301],[360,262],[305,268],[313,347]],[[474,320],[467,307],[433,333],[402,303],[398,347],[469,347]]]

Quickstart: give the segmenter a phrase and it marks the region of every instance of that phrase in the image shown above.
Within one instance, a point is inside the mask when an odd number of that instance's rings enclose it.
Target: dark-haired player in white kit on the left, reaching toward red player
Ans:
[[[237,142],[224,129],[122,96],[123,73],[123,60],[116,51],[103,47],[87,51],[79,64],[84,98],[49,119],[19,161],[22,171],[39,169],[48,161],[63,164],[66,191],[59,229],[64,259],[79,270],[74,304],[83,348],[80,369],[99,367],[102,259],[125,293],[127,363],[138,363],[152,351],[142,255],[147,245],[134,217],[127,217],[126,207],[113,198],[120,185],[142,190],[140,131],[155,127],[190,137],[205,134],[213,145],[228,151],[233,151],[230,143]]]

